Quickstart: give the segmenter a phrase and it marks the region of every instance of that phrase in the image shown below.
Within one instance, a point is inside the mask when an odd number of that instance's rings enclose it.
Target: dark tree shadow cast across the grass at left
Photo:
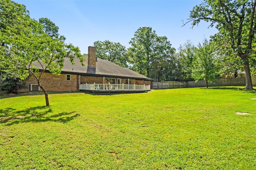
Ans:
[[[19,111],[10,107],[0,109],[0,123],[6,123],[7,126],[26,122],[66,123],[78,116],[79,114],[75,114],[75,111],[54,114],[50,106],[28,107]]]

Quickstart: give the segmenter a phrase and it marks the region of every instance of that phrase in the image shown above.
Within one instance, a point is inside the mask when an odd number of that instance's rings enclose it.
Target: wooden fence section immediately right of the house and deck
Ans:
[[[188,87],[188,82],[151,82],[152,89],[170,89],[170,88],[186,88]]]

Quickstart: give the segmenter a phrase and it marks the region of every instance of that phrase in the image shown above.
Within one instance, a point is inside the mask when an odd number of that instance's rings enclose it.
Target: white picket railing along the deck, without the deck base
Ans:
[[[80,90],[92,90],[92,91],[149,91],[150,90],[150,85],[80,84]]]

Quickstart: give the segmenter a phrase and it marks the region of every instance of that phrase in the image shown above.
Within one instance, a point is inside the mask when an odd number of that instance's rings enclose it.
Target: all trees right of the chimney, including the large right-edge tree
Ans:
[[[129,42],[130,48],[124,50],[118,43],[122,55],[116,64],[128,66],[155,81],[203,79],[206,84],[221,75],[236,77],[240,70],[246,73],[245,89],[254,90],[251,75],[256,74],[256,1],[204,0],[190,11],[184,25],[191,23],[194,27],[202,20],[218,29],[210,42],[204,39],[194,46],[187,41],[176,51],[167,37],[158,37],[151,27],[140,27]],[[108,43],[116,44],[96,41],[94,45],[99,56],[112,59],[110,53],[100,50]]]

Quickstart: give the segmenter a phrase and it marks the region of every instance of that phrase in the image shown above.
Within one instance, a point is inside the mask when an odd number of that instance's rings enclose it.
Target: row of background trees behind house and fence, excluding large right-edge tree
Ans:
[[[155,82],[205,80],[208,87],[208,82],[223,75],[237,77],[238,71],[244,71],[239,58],[231,49],[221,48],[214,36],[210,41],[202,39],[196,46],[187,40],[175,49],[167,37],[158,37],[151,27],[140,27],[129,43],[128,49],[109,40],[96,41],[94,47],[99,58],[130,68]],[[253,62],[251,69],[255,75]]]

